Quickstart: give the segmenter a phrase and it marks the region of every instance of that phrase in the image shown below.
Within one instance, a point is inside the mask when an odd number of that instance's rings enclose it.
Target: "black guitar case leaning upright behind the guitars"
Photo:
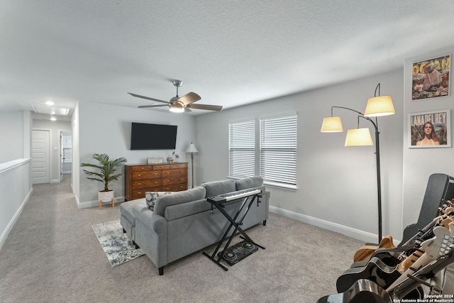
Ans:
[[[404,229],[401,244],[409,240],[440,214],[444,200],[454,198],[454,178],[444,174],[433,174],[428,178],[426,194],[419,212],[418,221]]]

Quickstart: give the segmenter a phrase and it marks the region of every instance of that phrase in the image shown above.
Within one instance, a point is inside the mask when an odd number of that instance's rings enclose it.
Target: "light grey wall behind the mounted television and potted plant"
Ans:
[[[175,152],[180,156],[179,161],[190,162],[190,156],[184,152],[189,143],[195,142],[195,119],[192,116],[83,101],[79,102],[77,114],[79,163],[91,162],[93,153],[107,153],[112,159],[125,157],[128,164],[145,164],[147,158],[165,160],[172,154],[173,150],[130,150],[131,122],[177,125]],[[153,134],[148,139],[153,140]],[[77,185],[75,187],[79,207],[95,206],[101,183],[87,180],[79,163],[74,167],[74,170],[79,170],[79,189]],[[112,187],[118,200],[124,199],[124,179],[114,182]]]

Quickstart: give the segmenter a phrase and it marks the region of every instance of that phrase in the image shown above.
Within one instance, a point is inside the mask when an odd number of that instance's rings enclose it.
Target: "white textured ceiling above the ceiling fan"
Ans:
[[[127,92],[167,101],[171,79],[227,109],[402,68],[453,44],[453,16],[451,0],[1,0],[0,111],[136,107],[153,102]]]

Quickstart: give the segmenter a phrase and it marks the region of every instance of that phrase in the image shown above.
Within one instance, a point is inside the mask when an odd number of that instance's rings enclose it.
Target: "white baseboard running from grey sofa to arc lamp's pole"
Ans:
[[[359,229],[343,226],[330,221],[314,218],[313,216],[306,216],[304,214],[298,214],[294,211],[288,211],[287,209],[280,209],[276,206],[270,206],[270,212],[286,216],[287,218],[301,221],[303,223],[318,226],[329,231],[335,231],[336,233],[342,233],[345,236],[358,239],[367,243],[376,243],[378,236],[373,233],[367,233],[366,231],[360,231]]]

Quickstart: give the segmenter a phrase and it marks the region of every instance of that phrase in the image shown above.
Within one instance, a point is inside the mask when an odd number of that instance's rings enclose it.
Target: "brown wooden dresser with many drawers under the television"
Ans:
[[[187,189],[187,162],[125,165],[125,200],[145,198],[145,192]]]

